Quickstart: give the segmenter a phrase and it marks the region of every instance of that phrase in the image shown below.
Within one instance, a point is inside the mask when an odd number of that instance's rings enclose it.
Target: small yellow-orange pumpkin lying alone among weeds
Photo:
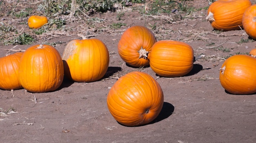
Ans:
[[[38,15],[32,15],[27,20],[29,28],[39,28],[39,27],[45,25],[47,22],[48,22],[47,17],[38,16]]]

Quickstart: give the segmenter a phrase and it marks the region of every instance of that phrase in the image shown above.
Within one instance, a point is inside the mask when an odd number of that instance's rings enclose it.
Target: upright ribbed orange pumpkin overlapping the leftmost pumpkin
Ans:
[[[18,76],[22,87],[29,92],[54,91],[64,78],[61,55],[50,45],[31,46],[20,58]]]

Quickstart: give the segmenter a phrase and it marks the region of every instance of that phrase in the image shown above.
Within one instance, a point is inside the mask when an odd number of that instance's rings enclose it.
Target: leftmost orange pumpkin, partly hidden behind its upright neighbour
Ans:
[[[0,89],[22,89],[18,80],[20,57],[23,52],[16,52],[0,58]]]

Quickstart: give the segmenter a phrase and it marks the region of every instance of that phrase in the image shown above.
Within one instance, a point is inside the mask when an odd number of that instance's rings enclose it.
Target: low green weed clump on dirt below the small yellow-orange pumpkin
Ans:
[[[4,42],[4,45],[28,45],[34,41],[35,40],[31,35],[23,33],[10,41]]]

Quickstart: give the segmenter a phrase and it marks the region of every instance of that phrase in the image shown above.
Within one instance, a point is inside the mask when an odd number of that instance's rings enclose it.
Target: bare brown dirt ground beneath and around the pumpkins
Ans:
[[[254,1],[252,1],[255,3]],[[192,6],[209,6],[207,0],[195,0]],[[137,11],[124,13],[120,29],[102,27],[116,22],[118,12],[95,14],[103,19],[94,29],[83,29],[85,22],[67,22],[66,27],[77,28],[84,35],[101,39],[110,52],[106,76],[96,82],[63,81],[54,92],[29,93],[25,89],[0,90],[0,108],[9,110],[0,116],[0,142],[2,143],[255,143],[256,96],[232,95],[225,92],[219,81],[219,69],[225,57],[245,54],[255,48],[244,30],[213,31],[205,20],[207,10],[196,11],[182,20],[169,22],[172,15],[143,16]],[[13,22],[11,17],[0,17],[2,22]],[[24,21],[27,18],[23,19]],[[195,61],[186,76],[157,78],[150,67],[127,66],[117,53],[121,34],[130,26],[143,25],[153,29],[157,40],[172,39],[190,44],[194,55],[205,57]],[[79,30],[82,29],[82,30]],[[29,31],[26,24],[20,29]],[[78,32],[55,33],[48,43],[58,42],[55,48],[63,53],[65,45],[79,38]],[[54,34],[54,33],[52,33]],[[48,35],[49,36],[49,35]],[[45,36],[47,37],[47,35]],[[242,42],[241,42],[242,41]],[[31,45],[45,43],[39,39]],[[0,45],[4,56],[15,45]],[[29,45],[13,49],[25,50]],[[110,87],[117,78],[132,71],[150,74],[162,87],[164,107],[151,124],[139,127],[122,126],[115,121],[106,104]],[[37,103],[33,100],[37,99]],[[13,111],[11,110],[13,109]]]

